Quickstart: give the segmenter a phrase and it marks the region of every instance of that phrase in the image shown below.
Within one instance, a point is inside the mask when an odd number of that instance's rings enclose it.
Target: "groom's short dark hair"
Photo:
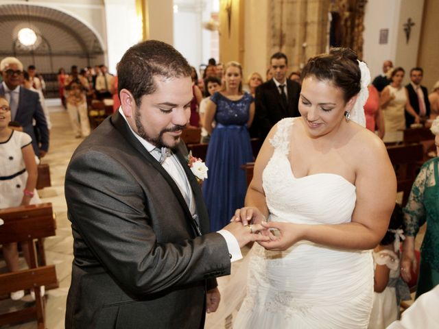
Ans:
[[[154,77],[190,76],[191,66],[174,47],[165,42],[147,40],[128,49],[117,64],[117,92],[129,90],[140,106],[144,95],[156,91]]]

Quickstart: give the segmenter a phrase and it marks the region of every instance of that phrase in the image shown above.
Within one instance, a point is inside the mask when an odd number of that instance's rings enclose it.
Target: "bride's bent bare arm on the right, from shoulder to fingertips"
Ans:
[[[375,138],[373,138],[375,139]],[[300,225],[293,223],[263,223],[277,228],[275,241],[261,243],[263,247],[284,250],[297,241],[308,240],[328,247],[372,249],[378,245],[388,228],[396,199],[396,177],[385,146],[371,140],[368,147],[358,149],[356,171],[357,202],[351,223]]]

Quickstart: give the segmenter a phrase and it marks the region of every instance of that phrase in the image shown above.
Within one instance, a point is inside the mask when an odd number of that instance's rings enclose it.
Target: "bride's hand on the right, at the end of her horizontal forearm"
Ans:
[[[265,249],[283,252],[302,240],[302,226],[299,224],[272,221],[261,225],[271,232],[270,241],[258,241]]]

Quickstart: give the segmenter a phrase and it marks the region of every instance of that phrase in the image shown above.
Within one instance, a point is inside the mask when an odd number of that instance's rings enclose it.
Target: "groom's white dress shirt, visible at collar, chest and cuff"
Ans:
[[[125,114],[123,114],[123,110],[121,107],[119,107],[119,113],[123,117],[123,119],[126,120]],[[127,121],[128,123],[128,121]],[[141,138],[134,130],[132,130],[130,124],[128,123],[128,127],[130,127],[130,130],[134,137],[137,138],[137,140],[145,147],[145,149],[148,152],[152,152],[156,147],[152,145],[151,143],[145,141],[145,139]],[[178,161],[178,158],[175,154],[172,154],[171,156],[168,156],[165,161],[162,163],[163,169],[169,173],[171,178],[176,182],[178,189],[182,193],[183,197],[186,200],[186,203],[189,206],[189,210],[191,211],[192,215],[196,214],[196,208],[195,208],[195,199],[193,197],[192,188],[189,184],[189,180],[187,178],[187,175],[185,174],[185,170],[182,168],[182,165],[180,164],[180,161]],[[189,202],[188,202],[189,201]],[[217,233],[221,234],[227,243],[227,249],[228,253],[230,254],[230,262],[235,262],[235,260],[239,260],[242,258],[241,249],[239,248],[239,243],[235,236],[228,232],[228,230],[219,230]]]

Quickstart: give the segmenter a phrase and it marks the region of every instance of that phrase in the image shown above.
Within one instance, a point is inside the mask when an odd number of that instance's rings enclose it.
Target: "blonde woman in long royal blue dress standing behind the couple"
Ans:
[[[241,80],[241,65],[228,62],[223,90],[211,96],[204,116],[211,140],[206,155],[209,178],[202,190],[212,232],[226,226],[235,210],[244,206],[247,184],[241,165],[253,161],[248,127],[254,117],[254,99],[243,93]],[[212,131],[213,120],[217,124]]]

